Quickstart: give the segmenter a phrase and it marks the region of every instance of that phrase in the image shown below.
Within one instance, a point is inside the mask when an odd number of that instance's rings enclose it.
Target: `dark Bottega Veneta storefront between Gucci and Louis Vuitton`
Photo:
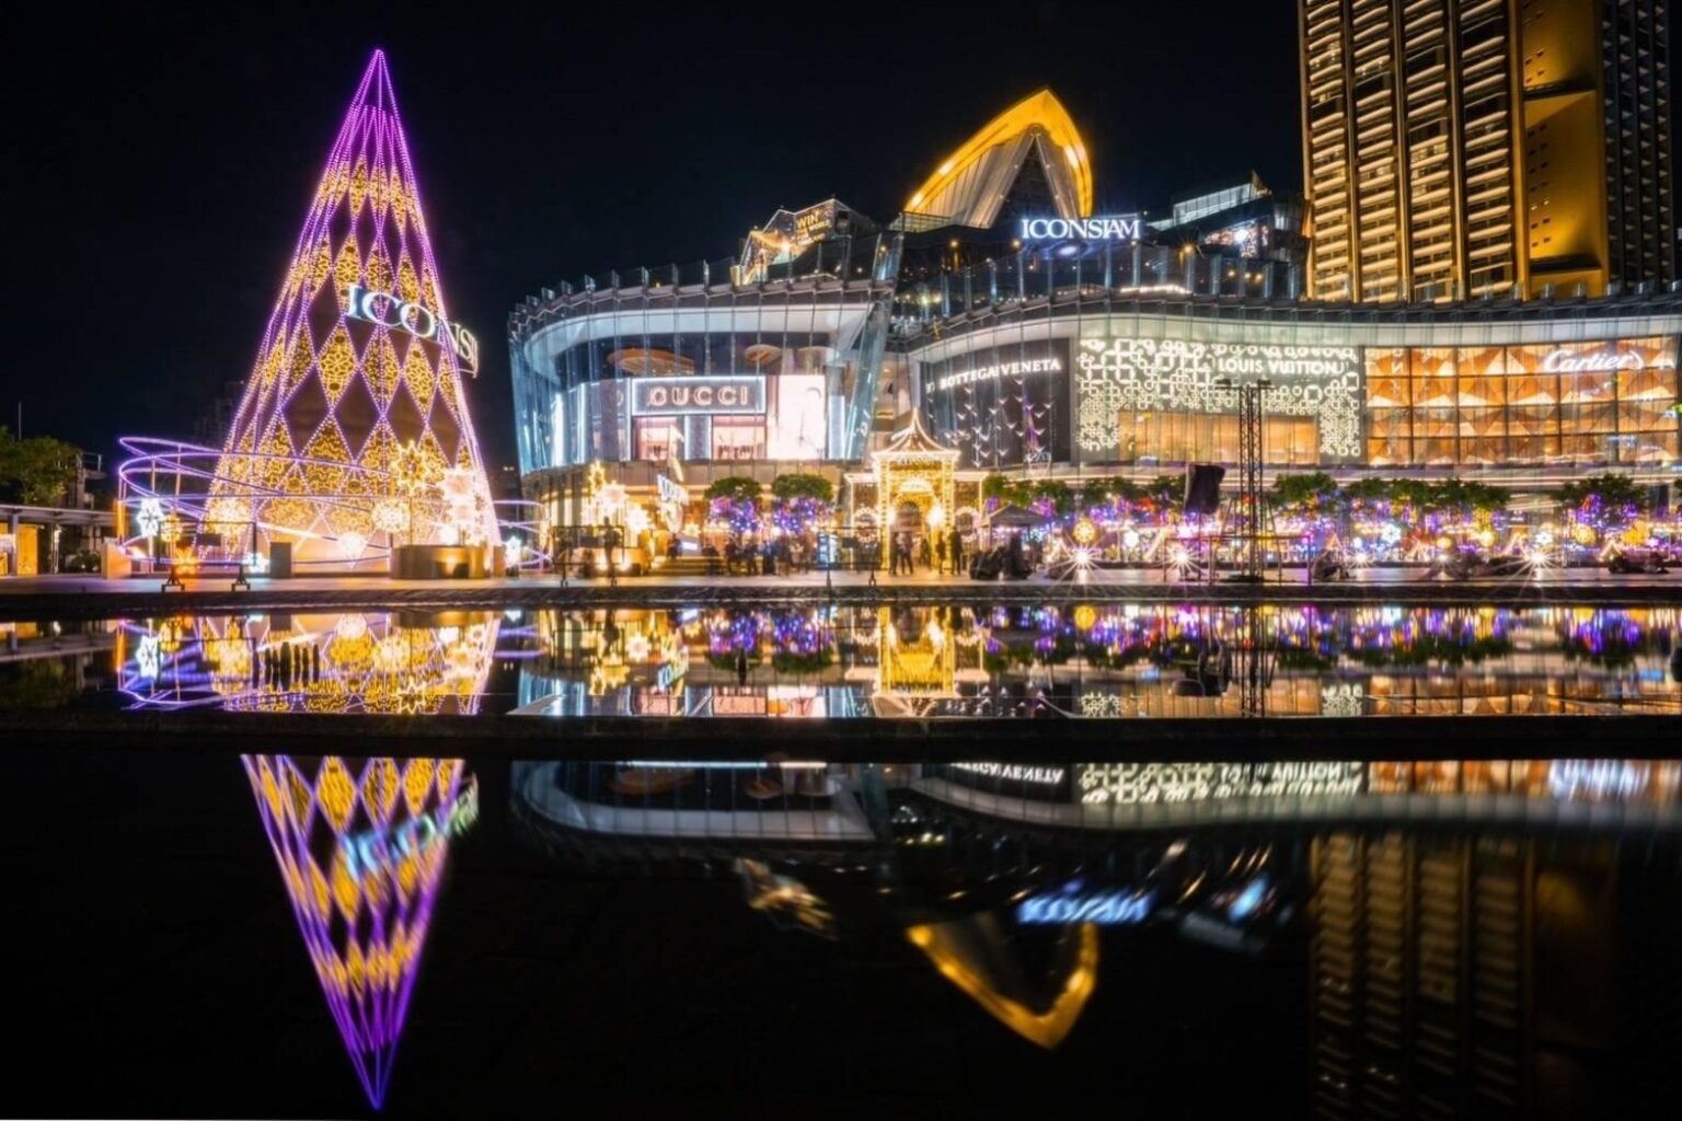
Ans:
[[[922,366],[927,427],[964,467],[1070,457],[1068,339],[1009,343]]]

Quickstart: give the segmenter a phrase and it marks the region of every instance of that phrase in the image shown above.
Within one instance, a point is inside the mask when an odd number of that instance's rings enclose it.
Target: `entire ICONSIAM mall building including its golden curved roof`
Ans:
[[[592,501],[606,482],[631,523],[705,536],[711,481],[816,472],[854,528],[964,528],[994,472],[1078,489],[1236,464],[1246,383],[1267,383],[1268,477],[1522,496],[1682,462],[1669,284],[1310,299],[1302,200],[1251,175],[1108,212],[1095,153],[1125,166],[1041,91],[886,224],[828,200],[730,261],[528,297],[510,318],[525,496],[550,526],[617,521]]]

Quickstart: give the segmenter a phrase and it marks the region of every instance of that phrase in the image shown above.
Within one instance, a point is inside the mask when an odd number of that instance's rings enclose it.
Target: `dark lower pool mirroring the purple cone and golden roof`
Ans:
[[[99,1067],[13,1086],[52,1113],[1569,1118],[1677,1089],[1682,761],[13,773],[17,1059]]]

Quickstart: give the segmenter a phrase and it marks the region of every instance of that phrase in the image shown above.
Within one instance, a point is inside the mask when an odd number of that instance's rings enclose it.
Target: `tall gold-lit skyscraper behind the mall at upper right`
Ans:
[[[1309,292],[1675,279],[1665,0],[1302,0]]]

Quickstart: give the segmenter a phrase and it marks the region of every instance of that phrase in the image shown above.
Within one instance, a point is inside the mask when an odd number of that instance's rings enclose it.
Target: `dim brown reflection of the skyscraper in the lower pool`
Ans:
[[[1610,1062],[1655,1077],[1632,1052],[1674,1045],[1620,1024],[1620,990],[1675,987],[1616,975],[1662,923],[1620,928],[1611,845],[1339,832],[1312,860],[1315,1116],[1583,1116],[1628,1092]]]

